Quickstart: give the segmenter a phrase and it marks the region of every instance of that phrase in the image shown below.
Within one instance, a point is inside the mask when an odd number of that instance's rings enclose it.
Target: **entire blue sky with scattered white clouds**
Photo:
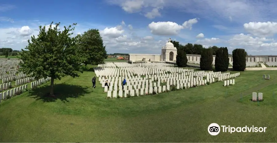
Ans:
[[[244,48],[277,55],[277,1],[102,0],[0,2],[0,47],[20,50],[39,25],[99,29],[108,53],[161,54],[169,38],[185,45]]]

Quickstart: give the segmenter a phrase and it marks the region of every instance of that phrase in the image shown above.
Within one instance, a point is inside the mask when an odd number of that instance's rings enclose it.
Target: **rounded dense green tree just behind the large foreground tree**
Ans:
[[[108,55],[99,30],[89,29],[78,36],[78,46],[82,49],[82,54],[86,58],[83,63],[85,65],[104,63],[104,59]]]

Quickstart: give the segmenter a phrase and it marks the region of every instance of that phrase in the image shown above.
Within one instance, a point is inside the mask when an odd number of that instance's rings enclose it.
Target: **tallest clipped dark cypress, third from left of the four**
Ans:
[[[215,70],[227,71],[229,67],[229,56],[227,47],[220,47],[215,52]]]

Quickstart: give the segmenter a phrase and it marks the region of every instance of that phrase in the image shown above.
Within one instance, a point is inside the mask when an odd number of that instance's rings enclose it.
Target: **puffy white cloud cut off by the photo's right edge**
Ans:
[[[277,33],[277,22],[249,22],[243,24],[244,29],[255,36],[273,36]]]

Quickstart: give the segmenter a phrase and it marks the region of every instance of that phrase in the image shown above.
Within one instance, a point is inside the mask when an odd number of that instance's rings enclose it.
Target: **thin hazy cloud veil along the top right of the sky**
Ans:
[[[249,21],[268,21],[277,12],[277,1],[268,0],[106,0],[121,6],[128,13],[147,13],[156,7],[185,11],[209,20],[228,20],[245,23]]]

